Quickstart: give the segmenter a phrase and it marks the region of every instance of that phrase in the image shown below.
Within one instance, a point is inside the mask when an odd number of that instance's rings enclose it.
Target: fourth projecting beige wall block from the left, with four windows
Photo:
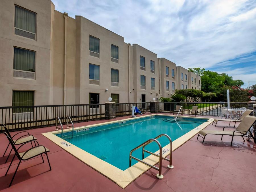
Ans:
[[[166,67],[169,67],[169,77],[166,77]],[[174,69],[174,78],[172,77],[172,69]],[[177,89],[177,72],[176,64],[168,59],[161,58],[161,81],[162,81],[162,95],[163,97],[168,97],[174,94],[175,89]],[[166,81],[169,81],[169,91],[166,89]],[[172,83],[175,83],[175,89],[172,87]]]

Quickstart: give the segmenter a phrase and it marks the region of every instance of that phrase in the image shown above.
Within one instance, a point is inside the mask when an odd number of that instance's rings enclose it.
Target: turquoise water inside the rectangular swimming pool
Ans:
[[[122,121],[110,125],[92,127],[88,131],[74,131],[74,137],[64,139],[69,143],[85,150],[86,152],[112,164],[113,166],[125,170],[129,168],[129,153],[136,146],[148,139],[154,138],[162,133],[169,135],[174,141],[185,133],[207,121],[207,119],[184,118],[186,123],[173,123],[168,116],[153,116]],[[193,120],[193,121],[192,121]],[[57,135],[61,137],[60,134]],[[158,139],[162,147],[169,141],[166,137]],[[155,152],[159,150],[156,143],[150,143],[146,150]],[[142,158],[142,148],[133,152],[133,156]],[[145,153],[145,156],[149,156]],[[132,159],[132,165],[137,163]]]

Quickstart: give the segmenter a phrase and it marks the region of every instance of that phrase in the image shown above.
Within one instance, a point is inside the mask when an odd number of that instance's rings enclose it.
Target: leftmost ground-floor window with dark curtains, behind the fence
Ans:
[[[13,91],[13,106],[34,106],[34,97],[34,91]],[[34,108],[16,108],[12,112],[34,112]]]

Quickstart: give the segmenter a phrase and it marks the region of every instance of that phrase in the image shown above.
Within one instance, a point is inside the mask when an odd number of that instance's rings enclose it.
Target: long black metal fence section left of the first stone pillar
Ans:
[[[0,122],[10,131],[49,127],[55,125],[57,116],[65,123],[67,115],[73,122],[104,119],[105,104],[0,107]]]

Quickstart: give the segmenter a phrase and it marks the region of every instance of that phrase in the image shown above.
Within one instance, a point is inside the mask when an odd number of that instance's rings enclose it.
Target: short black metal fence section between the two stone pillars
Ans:
[[[148,113],[150,112],[150,102],[143,102],[143,103],[119,103],[115,107],[115,116],[127,116],[131,115],[132,113],[132,106],[137,107],[141,113]]]

